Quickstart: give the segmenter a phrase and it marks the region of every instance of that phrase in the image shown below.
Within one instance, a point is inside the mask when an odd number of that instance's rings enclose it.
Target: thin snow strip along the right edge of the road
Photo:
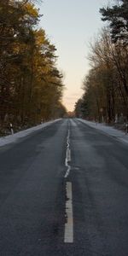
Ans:
[[[123,142],[123,143],[128,143],[128,134],[126,135],[125,132],[123,131],[119,131],[113,127],[107,126],[105,124],[99,124],[96,122],[90,122],[84,119],[78,119],[79,121],[81,121],[82,123],[84,123],[85,125],[89,125],[92,128],[95,128],[97,130],[103,131],[106,134],[108,134],[111,137],[115,137],[117,138],[119,141]]]

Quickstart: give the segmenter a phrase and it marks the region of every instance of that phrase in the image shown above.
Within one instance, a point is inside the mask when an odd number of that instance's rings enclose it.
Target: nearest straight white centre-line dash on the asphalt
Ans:
[[[66,217],[64,242],[73,243],[73,198],[72,198],[72,183],[66,183]]]

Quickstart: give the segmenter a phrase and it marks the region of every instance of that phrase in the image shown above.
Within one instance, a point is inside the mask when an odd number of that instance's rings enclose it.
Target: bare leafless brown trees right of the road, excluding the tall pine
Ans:
[[[125,72],[127,57],[124,49],[113,44],[109,30],[103,29],[90,44],[90,72],[84,79],[84,116],[111,123],[115,115],[128,113],[127,95],[120,77]],[[87,114],[88,113],[88,114]]]

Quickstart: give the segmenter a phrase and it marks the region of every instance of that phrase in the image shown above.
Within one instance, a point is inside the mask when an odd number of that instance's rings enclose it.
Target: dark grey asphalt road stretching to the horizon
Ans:
[[[61,119],[0,148],[1,256],[127,256],[128,146]]]

